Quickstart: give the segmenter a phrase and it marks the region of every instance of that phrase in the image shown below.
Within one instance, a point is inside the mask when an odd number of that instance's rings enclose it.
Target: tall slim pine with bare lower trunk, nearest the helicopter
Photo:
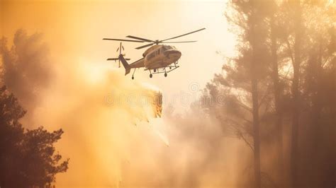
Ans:
[[[238,49],[241,54],[240,68],[245,69],[247,77],[245,81],[250,82],[248,90],[250,90],[250,101],[252,103],[252,137],[253,137],[253,151],[254,151],[254,187],[262,187],[261,185],[261,170],[260,170],[260,115],[261,103],[264,96],[260,97],[260,86],[263,84],[263,79],[267,76],[267,61],[269,61],[269,54],[265,42],[267,40],[265,27],[265,20],[269,11],[267,6],[269,4],[265,1],[232,1],[231,3],[234,16],[227,14],[227,19],[233,25],[236,25],[241,30],[241,43]],[[242,70],[235,71],[239,74]],[[264,83],[267,83],[264,82]],[[266,84],[267,85],[267,84]],[[262,88],[268,93],[268,87]]]

